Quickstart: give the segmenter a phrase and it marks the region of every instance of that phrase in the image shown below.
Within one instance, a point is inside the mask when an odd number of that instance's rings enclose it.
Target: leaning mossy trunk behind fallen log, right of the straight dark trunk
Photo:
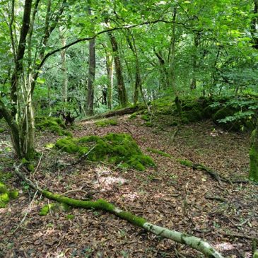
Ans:
[[[114,61],[115,61],[115,71],[116,71],[116,76],[117,76],[117,90],[118,90],[118,96],[119,96],[119,102],[120,105],[125,107],[127,105],[127,92],[124,86],[124,77],[123,77],[123,72],[122,72],[122,65],[119,57],[119,52],[118,52],[118,45],[117,45],[117,40],[115,36],[109,32],[108,33],[110,37],[110,42],[112,45],[112,51],[114,53]]]

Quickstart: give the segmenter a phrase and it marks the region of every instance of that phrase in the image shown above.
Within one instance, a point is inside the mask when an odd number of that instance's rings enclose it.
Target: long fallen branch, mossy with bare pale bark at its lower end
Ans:
[[[155,235],[161,236],[163,238],[168,238],[180,244],[188,245],[189,247],[192,247],[193,249],[203,253],[206,257],[223,258],[223,256],[220,253],[218,253],[215,249],[213,249],[213,247],[211,247],[211,245],[209,245],[208,242],[205,242],[200,238],[196,238],[192,235],[183,234],[175,230],[169,230],[168,228],[163,228],[158,225],[148,223],[148,221],[146,221],[145,218],[135,216],[133,213],[130,213],[128,211],[122,211],[121,209],[117,208],[113,204],[110,204],[104,199],[98,199],[97,201],[82,201],[78,199],[71,199],[61,194],[53,194],[52,192],[49,192],[45,189],[41,189],[37,186],[37,184],[35,184],[35,182],[28,179],[28,177],[25,177],[25,175],[23,175],[23,173],[20,172],[19,168],[20,165],[15,168],[16,175],[18,175],[20,179],[27,182],[27,184],[29,184],[30,187],[35,189],[37,192],[40,192],[44,197],[47,197],[48,199],[68,204],[69,206],[73,207],[107,211]]]

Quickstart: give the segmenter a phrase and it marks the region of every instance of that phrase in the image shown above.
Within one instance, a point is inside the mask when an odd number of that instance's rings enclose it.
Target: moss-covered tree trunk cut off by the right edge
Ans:
[[[258,182],[258,120],[256,129],[252,132],[250,156],[249,178]]]

